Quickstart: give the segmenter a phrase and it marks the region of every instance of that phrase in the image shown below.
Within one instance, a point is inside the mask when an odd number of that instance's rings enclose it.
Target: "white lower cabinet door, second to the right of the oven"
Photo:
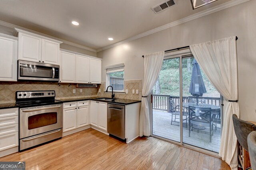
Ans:
[[[80,106],[77,109],[77,125],[76,127],[82,127],[89,125],[89,106]]]

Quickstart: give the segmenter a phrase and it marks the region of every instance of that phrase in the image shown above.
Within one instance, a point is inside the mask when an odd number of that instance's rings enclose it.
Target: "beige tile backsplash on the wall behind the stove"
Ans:
[[[59,85],[57,82],[0,82],[0,104],[15,103],[16,91],[55,90],[56,100],[97,95],[97,88],[76,88],[76,84],[72,83],[60,83]],[[76,89],[76,93],[73,93],[73,89]]]

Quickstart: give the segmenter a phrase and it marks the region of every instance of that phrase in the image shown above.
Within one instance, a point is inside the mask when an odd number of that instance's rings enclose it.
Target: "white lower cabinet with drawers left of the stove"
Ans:
[[[0,109],[0,157],[18,152],[18,108]]]

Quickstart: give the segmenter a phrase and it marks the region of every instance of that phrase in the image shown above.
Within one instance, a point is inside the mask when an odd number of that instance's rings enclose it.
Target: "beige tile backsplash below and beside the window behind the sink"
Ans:
[[[104,92],[106,90],[105,84],[106,82],[101,82],[100,87],[98,87],[98,89],[100,89],[100,92],[99,90],[97,91],[97,96],[111,98],[111,88],[108,88],[110,90],[110,93]],[[128,94],[115,92],[115,97],[122,99],[141,100],[142,80],[124,80],[124,91],[126,89],[128,90]],[[133,89],[135,91],[134,94],[132,94]],[[139,90],[139,94],[136,94],[136,89]]]

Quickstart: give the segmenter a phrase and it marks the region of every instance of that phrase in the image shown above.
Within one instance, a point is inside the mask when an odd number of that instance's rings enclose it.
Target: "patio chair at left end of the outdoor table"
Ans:
[[[178,121],[176,121],[176,116],[179,117],[180,119],[180,106],[176,106],[175,102],[173,101],[172,97],[169,96],[169,113],[172,113],[172,119],[174,116],[174,122],[180,123]],[[183,119],[183,116],[185,116],[186,118]],[[187,111],[182,111],[182,121],[186,120],[186,128],[188,128],[187,125],[187,121],[188,121],[188,112]],[[171,121],[171,125],[172,125],[173,120]]]

